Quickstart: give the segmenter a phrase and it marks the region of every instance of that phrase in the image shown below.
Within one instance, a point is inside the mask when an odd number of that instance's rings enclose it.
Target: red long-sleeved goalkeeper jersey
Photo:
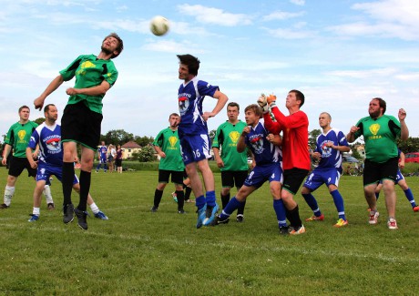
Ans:
[[[264,114],[265,127],[271,133],[279,134],[282,130],[282,167],[283,169],[310,169],[311,160],[309,145],[309,118],[298,111],[290,116],[284,116],[278,107],[271,109],[277,122],[272,121],[269,113]]]

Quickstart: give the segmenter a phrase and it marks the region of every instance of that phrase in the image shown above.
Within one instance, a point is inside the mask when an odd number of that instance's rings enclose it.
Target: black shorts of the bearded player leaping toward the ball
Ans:
[[[77,142],[97,151],[102,119],[83,102],[67,105],[61,118],[61,141]]]

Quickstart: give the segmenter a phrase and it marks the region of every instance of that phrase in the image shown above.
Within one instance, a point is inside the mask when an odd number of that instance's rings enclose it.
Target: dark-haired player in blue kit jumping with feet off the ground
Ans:
[[[191,55],[178,55],[179,79],[183,83],[179,87],[179,139],[183,162],[190,179],[192,191],[196,197],[198,208],[197,228],[208,226],[215,218],[219,209],[215,197],[214,175],[210,169],[210,137],[207,120],[215,117],[226,105],[229,98],[220,92],[219,87],[199,80],[199,59]],[[216,98],[217,104],[211,112],[202,111],[205,96]],[[197,166],[202,174],[206,193],[199,178]]]

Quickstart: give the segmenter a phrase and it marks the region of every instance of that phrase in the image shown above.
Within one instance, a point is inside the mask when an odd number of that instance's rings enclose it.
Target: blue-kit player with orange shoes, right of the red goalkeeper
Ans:
[[[332,128],[331,122],[332,117],[329,113],[320,114],[319,125],[322,128],[322,134],[317,137],[316,148],[312,152],[312,158],[320,161],[302,186],[301,195],[313,212],[313,216],[305,220],[322,221],[324,215],[319,209],[317,200],[312,196],[312,191],[325,184],[338,210],[339,219],[334,227],[343,227],[348,225],[348,220],[345,217],[343,199],[338,186],[342,175],[342,152],[348,152],[351,148],[342,131]]]

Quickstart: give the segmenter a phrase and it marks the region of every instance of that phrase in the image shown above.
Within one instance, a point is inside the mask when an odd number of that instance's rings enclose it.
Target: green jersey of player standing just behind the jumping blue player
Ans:
[[[166,158],[160,158],[158,169],[183,171],[182,155],[180,154],[178,130],[165,128],[161,130],[153,142],[154,146],[158,146],[161,151],[166,154]]]

